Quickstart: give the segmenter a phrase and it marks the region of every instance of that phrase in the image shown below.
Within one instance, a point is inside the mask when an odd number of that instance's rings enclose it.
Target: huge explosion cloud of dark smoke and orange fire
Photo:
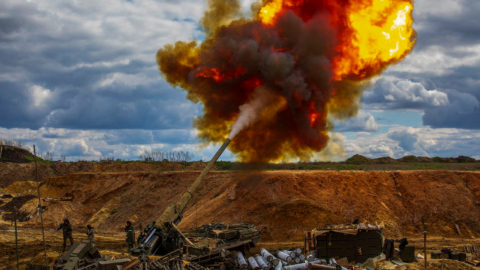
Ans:
[[[209,0],[206,38],[157,53],[166,80],[201,102],[199,138],[246,162],[310,159],[329,118],[353,117],[369,79],[415,44],[412,0]]]

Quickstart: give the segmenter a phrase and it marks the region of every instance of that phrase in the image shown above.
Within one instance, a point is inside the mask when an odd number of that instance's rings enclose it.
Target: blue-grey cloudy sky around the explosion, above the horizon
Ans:
[[[215,146],[201,148],[191,129],[201,105],[155,63],[163,45],[203,38],[205,2],[1,0],[0,138],[69,160],[145,150],[210,159]],[[478,14],[478,0],[416,0],[413,53],[374,79],[356,118],[336,123],[345,152],[333,158],[480,159]]]

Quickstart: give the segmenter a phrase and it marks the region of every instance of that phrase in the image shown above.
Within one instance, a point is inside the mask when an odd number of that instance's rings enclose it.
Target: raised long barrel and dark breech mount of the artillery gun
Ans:
[[[223,143],[188,191],[183,193],[180,200],[177,203],[170,204],[157,221],[152,222],[145,228],[145,236],[138,241],[139,247],[131,250],[133,255],[165,255],[171,251],[182,249],[185,242],[189,243],[189,240],[177,229],[176,225],[182,220],[182,214],[192,199],[193,193],[203,182],[203,179],[229,143],[230,139]]]

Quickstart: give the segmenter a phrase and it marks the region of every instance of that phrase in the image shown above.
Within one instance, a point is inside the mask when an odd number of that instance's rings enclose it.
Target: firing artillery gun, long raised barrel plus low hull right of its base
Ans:
[[[175,250],[183,250],[184,246],[188,246],[188,253],[201,256],[205,253],[211,253],[212,249],[235,249],[240,247],[255,246],[260,241],[260,232],[255,229],[253,225],[242,224],[243,226],[221,225],[225,232],[213,234],[212,229],[208,229],[209,225],[204,225],[204,237],[191,241],[185,234],[183,234],[177,225],[183,218],[188,203],[193,197],[193,193],[197,190],[208,172],[212,169],[215,162],[222,155],[223,151],[230,143],[227,139],[215,156],[208,162],[205,169],[197,177],[197,179],[190,186],[177,203],[170,204],[167,209],[160,216],[158,221],[153,221],[144,229],[144,237],[138,241],[138,248],[130,250],[132,255],[165,255]],[[217,224],[217,227],[220,224]],[[212,226],[210,226],[212,227]],[[198,230],[199,228],[197,228]],[[195,230],[194,230],[195,231]],[[190,232],[189,235],[191,235]],[[197,235],[198,236],[198,235]],[[227,236],[228,239],[222,239]],[[192,238],[193,239],[193,238]]]

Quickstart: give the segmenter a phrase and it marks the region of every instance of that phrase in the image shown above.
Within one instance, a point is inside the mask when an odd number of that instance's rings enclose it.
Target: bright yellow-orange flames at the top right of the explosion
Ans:
[[[286,10],[302,14],[313,0],[272,0],[259,11],[262,24],[272,26]],[[334,79],[363,79],[403,59],[415,45],[411,0],[316,1],[321,12],[333,10],[331,23],[339,30],[338,55],[331,59]],[[305,16],[310,18],[310,16]],[[342,17],[343,20],[338,18]]]

